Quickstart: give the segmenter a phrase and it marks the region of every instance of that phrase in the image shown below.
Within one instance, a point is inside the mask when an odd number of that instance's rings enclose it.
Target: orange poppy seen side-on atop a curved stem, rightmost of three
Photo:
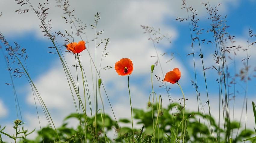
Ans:
[[[181,76],[181,72],[179,68],[174,68],[173,71],[167,72],[165,74],[163,81],[167,81],[174,84],[180,80],[180,76]]]

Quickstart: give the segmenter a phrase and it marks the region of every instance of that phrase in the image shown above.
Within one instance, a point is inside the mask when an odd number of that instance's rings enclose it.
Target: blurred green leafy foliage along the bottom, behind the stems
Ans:
[[[153,105],[152,105],[153,106]],[[177,107],[178,112],[174,107]],[[255,108],[255,106],[254,106]],[[173,115],[171,114],[171,109],[173,110]],[[181,131],[181,121],[182,121],[182,113],[183,107],[181,107],[179,104],[171,104],[167,108],[163,109],[163,115],[159,117],[157,128],[155,129],[155,140],[156,142],[170,142],[174,143],[177,142],[177,139],[180,139],[180,136],[183,137],[182,131]],[[102,120],[97,120],[97,128],[98,133],[95,133],[96,139],[98,142],[102,143],[108,143],[108,142],[151,142],[152,135],[153,135],[153,122],[152,122],[152,111],[151,108],[148,108],[147,110],[142,109],[133,109],[134,118],[137,119],[137,124],[141,125],[140,129],[134,129],[135,138],[132,138],[132,129],[130,128],[130,120],[122,118],[119,120],[119,122],[122,122],[123,127],[118,128],[116,122],[110,118],[109,115],[103,115],[104,126],[105,126],[105,134],[103,134],[103,122]],[[203,121],[198,120],[198,118],[204,119]],[[52,129],[51,127],[44,127],[42,130],[37,131],[38,136],[34,140],[25,140],[23,138],[22,142],[28,142],[28,143],[43,143],[43,142],[52,142],[52,143],[82,143],[85,141],[85,135],[86,140],[89,142],[92,142],[91,135],[89,133],[88,124],[86,122],[86,116],[84,114],[77,114],[72,113],[68,115],[64,122],[66,122],[68,119],[77,119],[79,121],[79,124],[76,128],[68,127],[67,123],[62,124],[61,127],[58,127],[57,130]],[[88,118],[88,117],[87,117]],[[98,119],[101,119],[101,114],[97,115]],[[157,118],[157,105],[154,105],[154,120],[156,121]],[[232,129],[236,130],[239,128],[239,122],[237,121],[229,121],[226,118],[226,125],[225,129],[219,128],[219,126],[216,124],[213,118],[211,118],[212,126],[214,127],[214,141],[211,138],[211,131],[209,129],[208,122],[210,121],[209,115],[202,115],[201,113],[198,114],[198,112],[185,112],[185,118],[187,119],[186,122],[186,134],[185,134],[185,141],[184,142],[216,142],[220,141],[221,143],[227,143],[227,142],[241,142],[244,140],[244,138],[249,138],[252,135],[255,135],[254,131],[243,129],[238,134],[236,139],[228,139],[225,141],[225,136],[228,136],[228,134],[231,134]],[[95,117],[88,118],[88,121],[91,126],[93,126]],[[14,121],[15,128],[24,124],[18,120]],[[223,126],[224,127],[224,126]],[[94,127],[95,128],[95,127]],[[18,129],[18,128],[17,128]],[[115,131],[115,137],[111,139],[108,137],[108,133],[112,130]],[[3,130],[3,129],[2,129]],[[2,133],[2,130],[1,133]],[[95,131],[95,130],[94,130]],[[218,136],[218,132],[220,132],[220,135]],[[27,131],[18,132],[18,133],[25,133],[27,134]],[[58,136],[59,139],[58,139]],[[119,134],[120,133],[120,134]],[[14,136],[11,136],[11,138],[14,138]],[[254,140],[255,137],[250,138],[248,140]],[[0,136],[0,141],[2,141]]]

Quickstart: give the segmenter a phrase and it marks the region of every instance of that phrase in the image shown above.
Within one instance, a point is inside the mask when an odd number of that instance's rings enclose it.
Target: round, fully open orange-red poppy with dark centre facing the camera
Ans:
[[[128,75],[133,72],[133,62],[128,58],[123,58],[115,64],[118,75]]]

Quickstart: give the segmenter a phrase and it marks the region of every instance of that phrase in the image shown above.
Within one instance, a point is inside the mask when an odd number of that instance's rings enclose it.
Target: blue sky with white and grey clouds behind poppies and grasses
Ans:
[[[34,0],[31,1],[34,7],[38,6],[38,2],[43,3],[44,0]],[[61,8],[56,7],[56,3],[53,0],[49,0],[48,5],[48,19],[52,19],[52,31],[61,31],[64,33],[65,30],[71,32],[69,24],[65,24],[65,20],[62,18],[64,11]],[[196,10],[198,26],[203,29],[211,28],[211,21],[207,10],[201,2],[207,2],[207,0],[188,0],[186,1],[187,6],[192,6]],[[235,46],[242,46],[242,48],[247,48],[248,40],[248,29],[256,30],[255,27],[255,16],[256,12],[255,6],[256,1],[254,0],[210,0],[212,7],[220,5],[217,7],[219,13],[226,17],[226,24],[230,27],[227,29],[230,35],[236,36]],[[191,80],[194,80],[194,66],[192,56],[187,56],[187,54],[192,53],[191,49],[191,39],[188,21],[175,21],[177,17],[186,18],[187,13],[185,9],[181,9],[181,0],[169,0],[169,1],[146,1],[146,0],[131,0],[131,1],[84,1],[76,0],[70,2],[70,9],[75,9],[73,15],[76,18],[81,19],[86,23],[86,34],[88,40],[92,40],[95,37],[95,30],[91,29],[89,26],[93,24],[94,14],[100,13],[101,19],[98,22],[98,31],[104,30],[98,38],[105,39],[109,38],[110,43],[107,47],[107,52],[109,55],[104,57],[102,66],[113,66],[121,58],[130,58],[133,61],[134,71],[130,76],[130,88],[132,94],[132,103],[135,108],[146,109],[148,96],[151,92],[151,64],[156,61],[156,53],[154,46],[150,40],[148,40],[149,35],[143,34],[144,30],[140,25],[154,27],[155,29],[160,28],[163,34],[168,33],[171,36],[169,43],[167,40],[162,40],[159,44],[156,44],[158,53],[165,53],[167,55],[161,56],[160,61],[163,66],[164,73],[178,67],[182,72],[182,77],[179,81],[185,96],[188,99],[186,101],[186,108],[190,111],[197,110],[197,101],[195,89],[191,85]],[[75,112],[75,108],[72,101],[72,96],[70,90],[68,89],[67,80],[65,73],[61,66],[61,63],[56,54],[50,54],[54,52],[48,47],[52,47],[51,41],[43,36],[39,28],[39,19],[36,17],[35,13],[30,10],[26,14],[17,14],[14,11],[17,9],[30,8],[28,5],[20,7],[16,4],[14,0],[0,0],[0,13],[3,15],[0,17],[0,31],[4,34],[6,39],[14,45],[14,42],[20,44],[20,46],[27,48],[27,53],[29,58],[27,59],[27,66],[30,72],[30,76],[34,81],[40,95],[45,101],[46,106],[50,110],[51,115],[55,124],[61,125],[62,119],[69,115],[71,112]],[[189,13],[191,14],[191,13]],[[200,39],[213,40],[212,33],[206,33],[199,35]],[[83,39],[86,39],[85,35],[82,35]],[[75,41],[79,41],[80,37],[75,36]],[[252,39],[253,40],[253,39]],[[64,39],[58,37],[57,41],[59,45],[64,44]],[[255,41],[255,40],[254,40]],[[253,42],[253,41],[252,41]],[[0,44],[1,46],[2,43]],[[230,42],[227,43],[228,46],[232,46]],[[90,52],[94,53],[95,43],[89,42],[87,48],[90,48]],[[60,47],[65,51],[64,47]],[[100,51],[97,57],[101,57],[102,50],[104,47],[99,47]],[[204,53],[204,64],[205,67],[211,67],[216,65],[211,54],[214,53],[214,44],[202,44],[202,52]],[[255,46],[251,46],[249,55],[249,65],[251,69],[254,69],[256,57]],[[195,44],[195,53],[199,52],[198,45]],[[174,53],[173,56],[170,53]],[[6,53],[5,53],[6,54]],[[198,55],[198,54],[196,54]],[[153,57],[152,57],[153,56]],[[233,56],[230,54],[229,56]],[[247,56],[246,51],[238,51],[236,56],[237,70],[243,67],[242,59]],[[12,86],[5,85],[5,83],[11,83],[6,65],[4,62],[4,57],[1,54],[0,62],[0,125],[7,126],[6,131],[12,132],[12,121],[17,118],[14,93]],[[74,57],[68,53],[64,54],[68,65],[75,64]],[[86,73],[90,72],[90,60],[89,55],[86,51],[81,53],[81,61],[85,67]],[[170,62],[167,62],[173,58]],[[95,60],[95,59],[94,59]],[[100,59],[97,59],[100,60]],[[200,97],[202,103],[206,103],[207,96],[204,86],[203,68],[201,66],[201,59],[195,56],[197,77],[198,77],[198,90],[200,92]],[[230,69],[233,69],[233,61],[228,61]],[[15,65],[14,65],[15,66]],[[99,67],[98,67],[99,68]],[[75,68],[70,66],[73,76],[76,76]],[[162,76],[161,69],[156,66],[154,74],[159,74]],[[231,75],[234,72],[230,72]],[[250,73],[253,75],[254,73]],[[219,105],[219,89],[218,83],[216,81],[218,74],[215,70],[206,70],[208,92],[209,92],[209,102],[211,105],[211,112],[215,118],[218,117],[218,105]],[[88,74],[90,77],[90,74]],[[127,89],[127,77],[118,76],[114,68],[110,70],[102,70],[101,78],[106,85],[106,91],[110,98],[111,104],[113,106],[115,115],[117,118],[130,118],[130,104],[129,95]],[[237,79],[239,80],[239,78]],[[36,115],[35,103],[31,88],[27,79],[24,77],[14,78],[14,84],[17,90],[17,96],[19,98],[21,112],[23,115],[23,120],[26,123],[28,129],[33,129],[36,127],[39,129],[38,119]],[[90,88],[92,90],[92,79],[89,78]],[[159,88],[161,83],[154,80],[155,90],[158,95],[162,95],[164,100],[164,106],[169,104],[168,97],[164,88]],[[167,83],[168,88],[171,88],[170,95],[172,99],[182,98],[179,87],[176,84]],[[235,100],[235,119],[239,120],[242,112],[242,104],[244,99],[244,88],[245,83],[239,81],[237,84],[237,89],[239,93],[236,93]],[[248,111],[247,116],[253,116],[251,101],[255,101],[254,95],[255,79],[252,78],[249,81],[248,86]],[[233,93],[233,85],[230,87],[230,93]],[[232,91],[232,92],[231,92]],[[103,91],[102,91],[103,93]],[[111,114],[111,109],[108,104],[107,98],[103,95],[106,112]],[[232,101],[233,102],[233,101]],[[230,104],[233,105],[233,104]],[[231,109],[233,111],[233,108]],[[205,111],[208,108],[205,107]],[[42,118],[42,125],[47,125],[47,121],[44,120],[44,115],[42,111],[39,111],[39,116]],[[245,115],[242,118],[245,121]],[[247,120],[247,124],[250,127],[255,126],[252,118]],[[34,137],[35,135],[31,135]]]

